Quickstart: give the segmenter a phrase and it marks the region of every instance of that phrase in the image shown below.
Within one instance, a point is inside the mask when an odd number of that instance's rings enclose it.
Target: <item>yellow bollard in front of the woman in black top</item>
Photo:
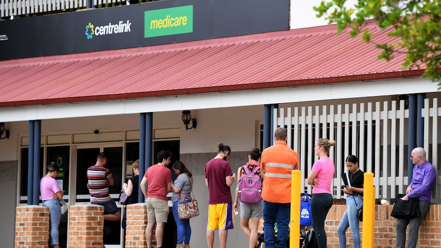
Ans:
[[[373,248],[373,230],[375,214],[375,187],[373,173],[364,173],[363,192],[363,247]]]

